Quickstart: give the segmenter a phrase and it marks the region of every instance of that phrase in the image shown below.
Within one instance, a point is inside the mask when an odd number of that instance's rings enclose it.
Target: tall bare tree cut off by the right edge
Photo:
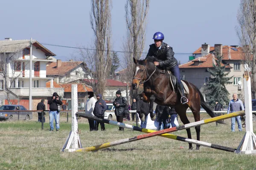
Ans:
[[[241,0],[236,28],[242,48],[245,66],[251,69],[252,94],[256,98],[256,0]]]

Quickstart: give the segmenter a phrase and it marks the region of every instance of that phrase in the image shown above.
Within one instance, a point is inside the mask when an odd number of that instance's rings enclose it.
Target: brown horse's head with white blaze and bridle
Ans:
[[[132,88],[135,90],[139,88],[139,85],[142,81],[145,81],[147,78],[146,74],[146,61],[145,60],[137,60],[134,58],[135,68],[134,68],[134,78],[132,81]]]

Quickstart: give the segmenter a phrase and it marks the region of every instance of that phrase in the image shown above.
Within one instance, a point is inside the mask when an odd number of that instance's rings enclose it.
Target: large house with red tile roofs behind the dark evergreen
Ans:
[[[229,72],[228,77],[232,77],[230,80],[233,82],[230,85],[226,85],[227,91],[229,91],[229,98],[232,99],[232,94],[237,93],[238,98],[243,98],[243,73],[244,65],[242,64],[242,50],[236,45],[221,45],[215,44],[214,47],[210,47],[208,44],[203,44],[198,48],[193,56],[190,56],[190,61],[179,65],[180,77],[196,85],[205,99],[207,100],[207,92],[205,91],[206,83],[211,76],[207,71],[207,68],[213,69],[213,63],[216,51],[219,51],[223,55],[222,63],[227,64],[226,72]],[[241,82],[240,82],[241,81]]]

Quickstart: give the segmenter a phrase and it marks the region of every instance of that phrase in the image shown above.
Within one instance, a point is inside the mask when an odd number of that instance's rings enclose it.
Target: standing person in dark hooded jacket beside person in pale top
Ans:
[[[107,104],[105,100],[102,99],[101,94],[98,94],[96,98],[97,98],[97,102],[95,103],[93,114],[98,118],[104,119],[105,111],[107,110]],[[105,131],[106,130],[105,124],[103,122],[96,122],[95,130],[99,130],[99,124],[100,124],[101,130]]]

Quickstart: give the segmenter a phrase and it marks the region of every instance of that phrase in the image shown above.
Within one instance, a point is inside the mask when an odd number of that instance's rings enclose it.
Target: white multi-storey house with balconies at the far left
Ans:
[[[55,56],[38,41],[12,40],[0,41],[0,99],[6,99],[6,91],[10,91],[12,104],[19,103],[29,108],[29,59],[30,43],[32,43],[32,109],[36,109],[38,101],[47,99],[57,92],[64,95],[63,88],[53,87],[53,78],[46,76],[46,64],[49,57]],[[50,80],[50,86],[46,82]],[[3,102],[6,104],[7,101]]]

